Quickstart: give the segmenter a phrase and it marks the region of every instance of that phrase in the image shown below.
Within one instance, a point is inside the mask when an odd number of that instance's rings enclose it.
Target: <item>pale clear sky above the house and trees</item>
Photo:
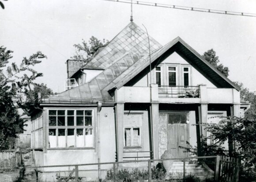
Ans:
[[[147,1],[256,13],[256,0]],[[14,51],[10,62],[17,64],[37,51],[44,53],[48,59],[33,69],[44,74],[37,82],[45,83],[54,92],[64,91],[65,62],[75,53],[73,45],[91,36],[110,41],[130,22],[131,15],[130,4],[105,0],[2,2],[5,9],[0,9],[0,46]],[[133,19],[141,28],[145,25],[151,37],[162,45],[179,36],[201,55],[213,48],[220,63],[229,67],[228,78],[256,90],[256,17],[134,4]]]

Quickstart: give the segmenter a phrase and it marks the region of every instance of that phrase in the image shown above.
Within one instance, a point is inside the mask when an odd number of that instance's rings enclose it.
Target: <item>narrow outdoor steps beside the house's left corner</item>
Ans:
[[[37,182],[37,176],[36,171],[34,168],[28,168],[33,167],[34,162],[32,160],[32,152],[30,150],[22,150],[23,155],[23,163],[25,166],[25,173],[24,178],[21,180],[21,182]]]

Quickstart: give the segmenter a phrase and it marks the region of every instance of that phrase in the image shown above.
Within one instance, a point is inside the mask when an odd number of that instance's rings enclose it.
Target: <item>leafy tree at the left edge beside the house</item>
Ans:
[[[23,105],[22,99],[17,99],[19,93],[28,95],[31,92],[36,78],[43,74],[31,67],[41,63],[40,59],[46,58],[41,52],[37,52],[29,58],[24,57],[22,63],[17,66],[11,63],[7,66],[12,51],[0,46],[0,150],[8,149],[14,141],[16,134],[23,130],[23,121],[19,118],[18,105]],[[7,72],[7,73],[6,73]]]

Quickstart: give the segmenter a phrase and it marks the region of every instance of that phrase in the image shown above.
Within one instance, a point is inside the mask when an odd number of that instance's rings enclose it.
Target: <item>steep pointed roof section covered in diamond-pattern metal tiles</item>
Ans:
[[[151,52],[162,47],[154,38],[149,36],[149,39]],[[149,55],[147,33],[132,21],[83,68],[92,69],[93,67],[98,67],[106,69],[114,60],[119,59],[127,52],[140,57]]]

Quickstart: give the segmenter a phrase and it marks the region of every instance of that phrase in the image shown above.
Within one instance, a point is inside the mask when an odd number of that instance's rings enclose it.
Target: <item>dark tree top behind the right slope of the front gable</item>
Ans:
[[[207,52],[204,52],[202,56],[212,66],[217,68],[218,71],[223,73],[226,77],[229,75],[229,68],[228,67],[224,67],[223,64],[218,64],[219,63],[219,59],[218,59],[218,56],[216,56],[216,52],[213,49],[210,49]]]

